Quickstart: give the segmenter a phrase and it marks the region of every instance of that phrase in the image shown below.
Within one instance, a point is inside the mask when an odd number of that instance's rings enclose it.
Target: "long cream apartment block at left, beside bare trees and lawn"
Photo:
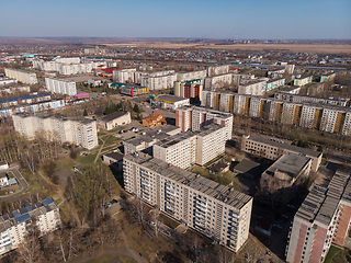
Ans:
[[[61,144],[75,144],[88,150],[98,146],[97,122],[92,119],[29,113],[14,114],[12,119],[15,132],[29,139],[45,132]]]

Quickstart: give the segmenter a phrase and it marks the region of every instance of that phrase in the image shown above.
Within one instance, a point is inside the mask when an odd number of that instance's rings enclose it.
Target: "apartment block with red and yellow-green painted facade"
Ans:
[[[174,95],[183,96],[186,99],[195,99],[196,101],[202,101],[202,91],[204,85],[201,84],[201,80],[189,80],[189,81],[174,81]]]

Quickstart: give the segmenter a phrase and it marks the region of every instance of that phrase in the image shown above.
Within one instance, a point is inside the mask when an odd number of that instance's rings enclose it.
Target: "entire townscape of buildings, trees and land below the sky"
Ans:
[[[0,37],[0,262],[350,262],[350,42]]]

